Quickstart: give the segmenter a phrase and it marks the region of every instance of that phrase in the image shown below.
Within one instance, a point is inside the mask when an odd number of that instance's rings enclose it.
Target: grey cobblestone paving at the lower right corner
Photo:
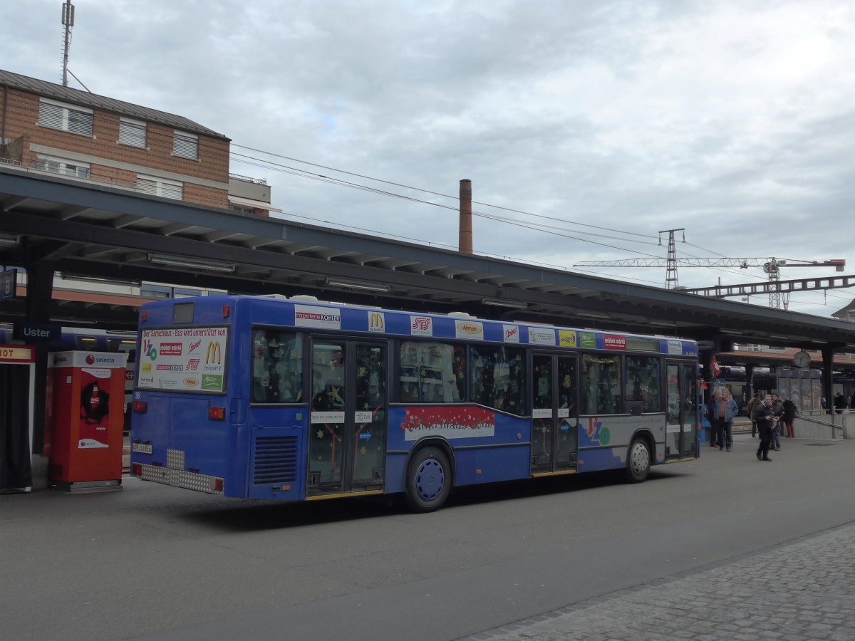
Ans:
[[[855,639],[855,524],[637,585],[477,641]]]

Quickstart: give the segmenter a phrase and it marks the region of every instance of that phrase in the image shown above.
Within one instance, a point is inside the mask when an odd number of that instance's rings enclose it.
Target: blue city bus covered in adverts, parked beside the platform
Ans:
[[[698,346],[314,297],[145,303],[131,473],[225,497],[404,494],[699,456]]]

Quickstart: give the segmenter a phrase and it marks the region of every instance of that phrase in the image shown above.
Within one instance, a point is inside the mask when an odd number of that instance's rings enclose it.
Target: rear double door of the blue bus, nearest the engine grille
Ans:
[[[312,338],[308,497],[382,491],[387,351],[384,342]]]

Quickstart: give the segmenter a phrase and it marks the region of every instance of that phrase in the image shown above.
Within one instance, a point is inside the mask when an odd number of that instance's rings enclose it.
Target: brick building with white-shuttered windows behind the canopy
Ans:
[[[227,209],[230,142],[180,115],[0,70],[0,162]]]

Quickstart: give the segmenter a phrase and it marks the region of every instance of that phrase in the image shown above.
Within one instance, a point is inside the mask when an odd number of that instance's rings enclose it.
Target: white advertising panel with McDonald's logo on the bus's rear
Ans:
[[[226,389],[228,327],[143,330],[137,387],[222,392]]]

